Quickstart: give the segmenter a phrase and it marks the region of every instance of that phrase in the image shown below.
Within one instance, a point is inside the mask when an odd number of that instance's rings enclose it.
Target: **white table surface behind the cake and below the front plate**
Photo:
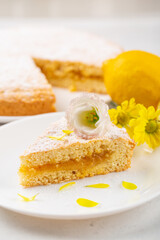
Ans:
[[[123,20],[0,20],[0,29],[20,24],[49,24],[103,35],[126,50],[141,49],[160,55],[160,18]],[[114,216],[81,221],[46,220],[0,208],[0,240],[41,239],[160,239],[160,197]]]

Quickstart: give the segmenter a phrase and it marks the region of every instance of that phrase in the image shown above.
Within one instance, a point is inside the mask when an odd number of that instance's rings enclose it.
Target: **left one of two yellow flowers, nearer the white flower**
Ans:
[[[117,127],[129,128],[129,121],[132,118],[137,118],[139,113],[140,104],[135,103],[135,99],[131,98],[129,101],[124,101],[117,109],[109,109],[111,121]],[[128,129],[129,130],[129,129]]]

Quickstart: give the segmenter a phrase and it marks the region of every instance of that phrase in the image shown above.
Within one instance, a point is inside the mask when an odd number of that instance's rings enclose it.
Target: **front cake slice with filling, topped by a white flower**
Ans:
[[[107,114],[107,105],[97,96],[74,99],[66,117],[54,122],[20,157],[21,185],[47,185],[128,169],[135,143]]]

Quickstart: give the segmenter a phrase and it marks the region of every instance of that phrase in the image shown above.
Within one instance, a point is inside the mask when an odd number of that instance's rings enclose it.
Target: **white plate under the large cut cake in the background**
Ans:
[[[77,97],[80,94],[80,92],[70,92],[67,89],[58,88],[58,87],[54,87],[53,91],[56,96],[55,106],[56,106],[57,112],[66,111],[71,99]],[[107,94],[99,94],[99,95],[105,102],[109,102],[111,100],[110,96]],[[22,118],[24,118],[24,116],[16,116],[16,117],[0,116],[0,124],[12,122]]]

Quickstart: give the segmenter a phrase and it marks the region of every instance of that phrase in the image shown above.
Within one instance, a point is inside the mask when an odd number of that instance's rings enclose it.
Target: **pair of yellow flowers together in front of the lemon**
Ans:
[[[124,101],[116,109],[110,109],[111,121],[118,127],[126,128],[137,145],[147,143],[150,148],[160,146],[160,109],[136,104],[135,99]]]

